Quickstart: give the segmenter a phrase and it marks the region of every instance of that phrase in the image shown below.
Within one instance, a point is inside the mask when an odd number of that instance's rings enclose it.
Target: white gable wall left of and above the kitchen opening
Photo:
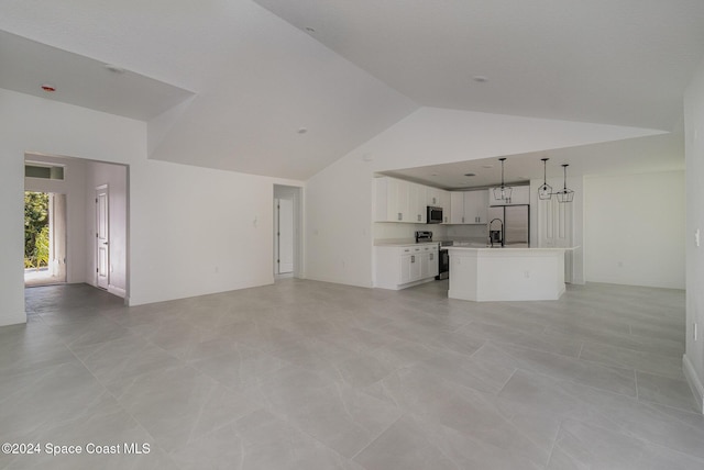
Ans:
[[[307,186],[307,276],[372,286],[374,172],[659,134],[600,124],[421,108]]]

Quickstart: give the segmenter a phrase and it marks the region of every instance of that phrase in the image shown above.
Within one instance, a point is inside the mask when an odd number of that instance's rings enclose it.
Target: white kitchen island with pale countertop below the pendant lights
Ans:
[[[450,299],[558,300],[564,293],[564,251],[573,248],[450,246]]]

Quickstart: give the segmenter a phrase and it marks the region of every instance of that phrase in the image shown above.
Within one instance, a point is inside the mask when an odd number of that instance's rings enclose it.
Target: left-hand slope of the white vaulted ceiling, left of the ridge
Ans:
[[[418,108],[249,0],[8,0],[0,30],[193,91],[148,122],[154,159],[306,180]],[[42,74],[44,56],[4,59],[58,90],[74,74],[58,56]]]

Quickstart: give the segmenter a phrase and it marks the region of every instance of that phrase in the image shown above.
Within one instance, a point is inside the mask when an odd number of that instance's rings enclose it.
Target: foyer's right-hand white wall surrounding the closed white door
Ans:
[[[96,188],[108,184],[109,276],[108,291],[125,296],[128,289],[128,167],[124,165],[86,161],[86,282],[96,279]]]

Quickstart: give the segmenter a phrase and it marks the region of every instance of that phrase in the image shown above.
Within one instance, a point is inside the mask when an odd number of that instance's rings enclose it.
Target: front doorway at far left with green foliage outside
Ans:
[[[24,286],[66,282],[66,194],[24,192]]]

